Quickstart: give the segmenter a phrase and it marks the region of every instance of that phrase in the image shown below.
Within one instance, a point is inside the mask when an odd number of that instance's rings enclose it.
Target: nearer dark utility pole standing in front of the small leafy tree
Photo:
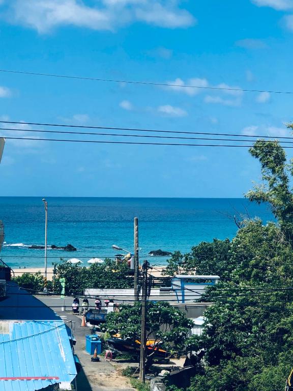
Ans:
[[[147,294],[148,294],[148,261],[142,265],[142,298],[141,298],[141,332],[140,332],[140,359],[139,359],[139,380],[145,382],[145,344],[146,344],[146,315],[147,315]]]

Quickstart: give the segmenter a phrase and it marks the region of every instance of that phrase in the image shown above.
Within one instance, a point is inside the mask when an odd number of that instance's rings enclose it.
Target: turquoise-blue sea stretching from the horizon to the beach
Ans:
[[[113,257],[112,244],[133,249],[133,218],[139,218],[140,259],[151,250],[188,252],[191,246],[213,238],[232,238],[237,232],[236,212],[263,221],[273,220],[266,205],[244,199],[172,198],[47,198],[48,244],[71,243],[74,253],[48,250],[48,265],[78,258]],[[28,249],[44,244],[45,212],[41,198],[0,197],[0,219],[5,225],[1,257],[12,267],[42,267],[44,250]],[[15,245],[17,244],[17,245]],[[165,264],[166,258],[149,258]]]

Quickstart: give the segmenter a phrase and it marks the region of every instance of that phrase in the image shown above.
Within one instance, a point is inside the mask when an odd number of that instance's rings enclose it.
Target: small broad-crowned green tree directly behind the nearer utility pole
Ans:
[[[121,338],[140,341],[141,305],[122,305],[119,313],[110,313],[103,331],[111,336],[121,334]],[[147,340],[160,343],[160,348],[167,352],[178,352],[185,349],[189,338],[189,330],[193,322],[185,314],[171,306],[168,302],[147,303]],[[153,362],[155,348],[148,353],[147,367]]]

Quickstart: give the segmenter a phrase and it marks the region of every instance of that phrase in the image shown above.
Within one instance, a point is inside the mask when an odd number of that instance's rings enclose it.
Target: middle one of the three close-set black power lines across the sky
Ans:
[[[83,134],[83,135],[97,135],[97,136],[120,136],[120,137],[148,137],[148,138],[172,138],[172,139],[186,139],[186,140],[212,140],[212,141],[237,141],[243,143],[254,143],[255,140],[239,139],[239,138],[210,138],[210,137],[183,137],[183,136],[162,136],[149,134],[117,134],[117,133],[96,133],[96,132],[69,132],[61,130],[40,130],[40,129],[18,129],[18,128],[0,128],[0,130],[13,130],[18,132],[37,132],[37,133],[57,133],[57,134]],[[5,136],[3,136],[5,137]],[[241,135],[239,135],[241,137]],[[293,139],[293,137],[288,137]],[[275,143],[275,140],[268,140],[266,143]],[[293,141],[280,141],[283,144],[293,144]]]

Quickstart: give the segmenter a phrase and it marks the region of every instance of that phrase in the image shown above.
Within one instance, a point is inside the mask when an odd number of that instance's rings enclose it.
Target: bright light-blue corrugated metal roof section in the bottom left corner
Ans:
[[[63,321],[0,321],[0,378],[58,378],[0,380],[0,391],[35,391],[50,384],[71,382],[75,376]]]

